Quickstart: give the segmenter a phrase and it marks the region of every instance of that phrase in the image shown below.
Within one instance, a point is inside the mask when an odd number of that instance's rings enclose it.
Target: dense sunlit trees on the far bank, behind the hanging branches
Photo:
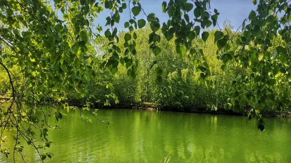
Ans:
[[[224,24],[225,33],[233,32],[230,22]],[[128,75],[127,65],[125,63],[118,64],[117,72],[110,72],[107,68],[100,65],[108,58],[108,41],[105,37],[99,37],[94,40],[96,50],[90,53],[94,57],[91,61],[92,69],[95,70],[96,76],[85,84],[88,92],[83,97],[78,97],[75,93],[68,96],[68,101],[78,101],[82,105],[86,103],[94,104],[96,107],[111,104],[132,104],[136,102],[145,102],[157,104],[160,109],[186,110],[198,108],[201,110],[228,110],[226,104],[229,101],[229,88],[232,85],[236,75],[242,73],[242,68],[236,67],[233,63],[224,64],[223,60],[217,59],[216,45],[214,43],[214,33],[219,30],[209,30],[210,36],[206,43],[201,38],[193,40],[193,44],[197,48],[201,48],[204,57],[207,60],[205,64],[211,71],[212,76],[206,82],[200,82],[198,79],[200,73],[196,71],[197,63],[193,61],[191,54],[186,53],[185,56],[176,55],[174,41],[168,42],[165,38],[161,38],[161,53],[159,58],[154,57],[151,49],[147,48],[147,40],[144,39],[151,33],[150,26],[144,29],[133,30],[140,37],[135,39],[136,42],[136,59],[138,60],[137,74],[134,78]],[[160,32],[160,31],[158,31]],[[119,32],[119,37],[124,37],[126,31]],[[123,46],[125,42],[120,41],[118,45]],[[121,48],[124,53],[126,48]],[[121,57],[122,58],[122,57]],[[126,59],[126,56],[123,57]],[[224,66],[230,67],[225,69]],[[157,81],[156,71],[161,68],[162,80]],[[17,69],[12,70],[13,74],[19,76],[17,79],[21,81],[21,73]],[[7,75],[2,70],[1,75]],[[1,93],[11,94],[11,86],[7,77],[3,77],[0,86]],[[15,81],[16,82],[16,81]],[[16,82],[16,83],[17,83]],[[245,97],[241,99],[242,107],[238,112],[249,111],[253,106]],[[51,100],[49,96],[43,101]],[[271,104],[266,107],[272,107]],[[277,109],[277,107],[276,107]],[[266,108],[266,110],[269,110]]]

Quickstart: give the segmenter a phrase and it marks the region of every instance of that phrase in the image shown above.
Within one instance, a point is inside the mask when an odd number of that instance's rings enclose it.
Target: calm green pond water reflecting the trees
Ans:
[[[291,163],[291,119],[265,119],[259,132],[247,117],[106,109],[98,121],[84,123],[79,111],[68,113],[49,131],[52,144],[45,152],[54,156],[45,163]],[[88,115],[89,116],[89,115]],[[42,151],[43,152],[43,151]],[[26,147],[27,163],[39,162],[36,151]],[[16,162],[20,162],[19,155]],[[0,153],[0,163],[11,163]]]

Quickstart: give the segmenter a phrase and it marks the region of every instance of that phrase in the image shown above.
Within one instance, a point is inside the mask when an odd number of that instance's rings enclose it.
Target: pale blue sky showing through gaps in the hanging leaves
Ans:
[[[164,22],[167,21],[169,17],[167,14],[162,13],[163,1],[164,0],[140,0],[140,3],[146,14],[155,13],[160,21]],[[217,21],[221,27],[223,26],[223,22],[227,19],[231,21],[231,25],[234,26],[234,29],[239,28],[242,25],[243,20],[248,17],[250,11],[256,9],[252,0],[210,0],[210,7],[212,12],[215,8],[220,13]],[[191,14],[193,15],[193,11],[190,11],[189,15]],[[98,15],[98,19],[96,20],[96,24],[99,23],[100,26],[102,26],[103,31],[109,28],[109,26],[104,27],[106,24],[106,17],[109,15],[110,11],[105,9]],[[129,10],[124,10],[120,16],[120,22],[119,24],[115,24],[115,27],[117,27],[118,30],[123,30],[124,22],[130,19]],[[137,19],[140,18],[146,20],[146,16],[142,12],[137,16]]]

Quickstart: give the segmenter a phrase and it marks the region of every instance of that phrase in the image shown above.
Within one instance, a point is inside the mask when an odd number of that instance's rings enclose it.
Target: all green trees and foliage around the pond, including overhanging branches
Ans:
[[[5,157],[22,156],[25,142],[42,162],[52,158],[39,152],[52,144],[48,129],[59,129],[47,120],[75,110],[83,122],[102,125],[109,122],[97,109],[132,104],[231,112],[254,120],[259,131],[262,115],[290,112],[290,0],[252,0],[257,9],[238,29],[227,19],[218,24],[220,11],[210,0],[156,2],[165,22],[140,1],[0,0]],[[96,19],[104,11],[101,27]],[[125,22],[123,12],[130,14]],[[4,145],[5,132],[14,134],[13,149]]]

